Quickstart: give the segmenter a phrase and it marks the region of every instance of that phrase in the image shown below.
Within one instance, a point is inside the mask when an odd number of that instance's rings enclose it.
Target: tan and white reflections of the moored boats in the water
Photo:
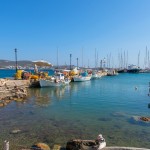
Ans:
[[[65,100],[83,88],[91,86],[91,82],[73,82],[64,87],[31,88],[28,90],[28,99],[37,106],[48,106],[55,100]]]

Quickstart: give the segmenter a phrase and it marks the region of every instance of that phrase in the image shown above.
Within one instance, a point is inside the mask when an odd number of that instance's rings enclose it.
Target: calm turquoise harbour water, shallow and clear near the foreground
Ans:
[[[150,124],[132,116],[150,116],[150,74],[119,74],[62,88],[29,89],[24,102],[0,108],[1,143],[12,148],[36,142],[65,146],[70,139],[95,139],[108,146],[150,148]],[[137,89],[135,89],[137,87]],[[11,134],[19,129],[18,134]]]

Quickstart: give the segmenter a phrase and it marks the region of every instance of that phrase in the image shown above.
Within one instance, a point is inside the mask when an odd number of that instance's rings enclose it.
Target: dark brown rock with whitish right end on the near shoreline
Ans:
[[[98,135],[96,140],[81,140],[75,139],[67,142],[66,150],[100,150],[106,147],[106,141],[102,135]]]

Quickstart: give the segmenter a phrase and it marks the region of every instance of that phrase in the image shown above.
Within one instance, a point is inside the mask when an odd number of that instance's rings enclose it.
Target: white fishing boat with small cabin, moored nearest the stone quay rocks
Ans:
[[[54,77],[39,79],[40,87],[59,87],[68,85],[71,80],[68,78],[64,78],[64,74],[58,72]]]

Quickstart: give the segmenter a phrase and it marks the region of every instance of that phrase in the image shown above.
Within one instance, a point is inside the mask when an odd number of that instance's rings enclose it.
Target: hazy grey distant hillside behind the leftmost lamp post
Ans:
[[[17,61],[18,66],[34,66],[34,63],[29,60],[21,60]],[[11,60],[0,60],[0,68],[6,67],[6,66],[15,66],[16,62]]]

